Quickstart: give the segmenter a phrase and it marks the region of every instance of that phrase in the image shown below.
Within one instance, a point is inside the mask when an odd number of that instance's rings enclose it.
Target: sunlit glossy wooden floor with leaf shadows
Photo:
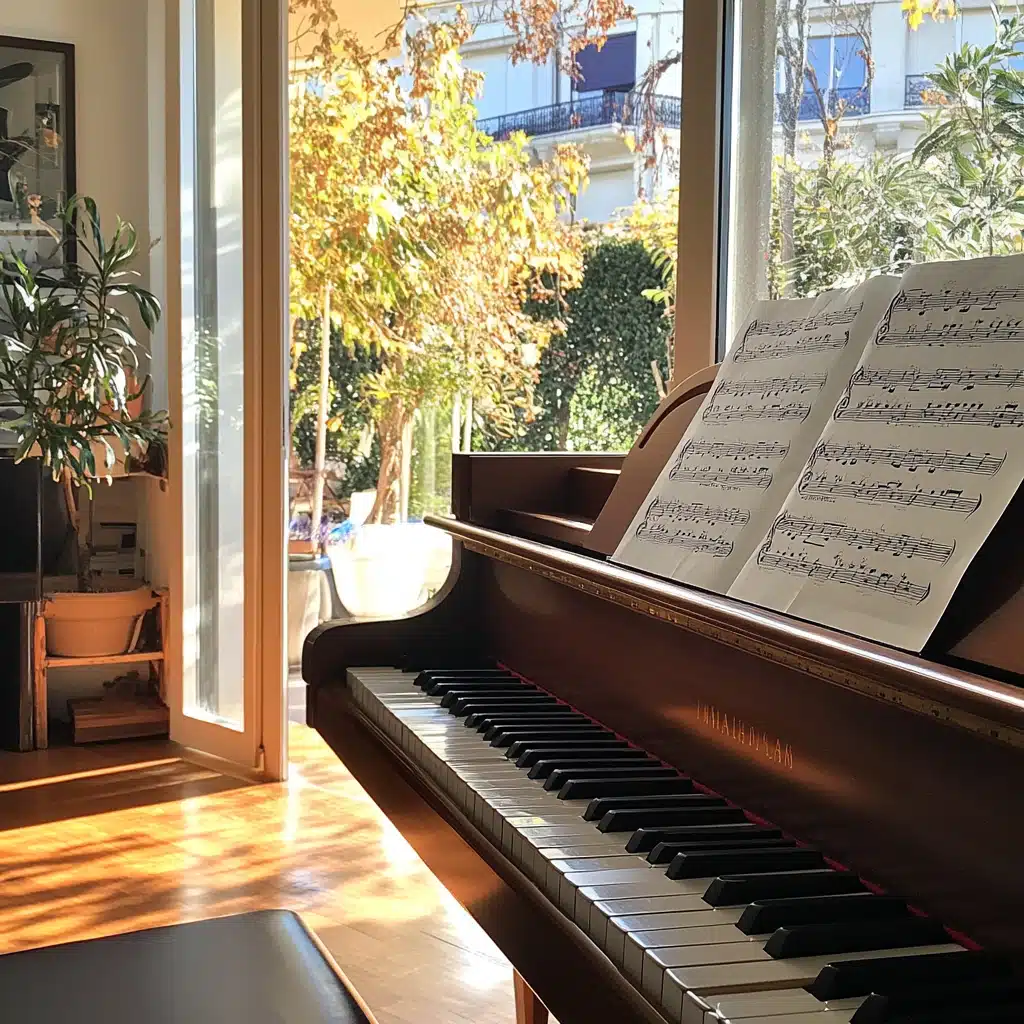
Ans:
[[[511,1024],[512,971],[334,754],[250,785],[161,742],[0,753],[0,952],[301,912],[381,1024]]]

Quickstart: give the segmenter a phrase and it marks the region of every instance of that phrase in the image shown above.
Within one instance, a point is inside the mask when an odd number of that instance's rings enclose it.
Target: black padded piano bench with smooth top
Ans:
[[[7,953],[0,1007],[32,1024],[375,1024],[288,910]]]

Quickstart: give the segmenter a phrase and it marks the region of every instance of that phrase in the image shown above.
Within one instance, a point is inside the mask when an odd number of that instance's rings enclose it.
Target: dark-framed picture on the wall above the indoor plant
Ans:
[[[75,47],[0,36],[0,252],[33,267],[74,258]]]

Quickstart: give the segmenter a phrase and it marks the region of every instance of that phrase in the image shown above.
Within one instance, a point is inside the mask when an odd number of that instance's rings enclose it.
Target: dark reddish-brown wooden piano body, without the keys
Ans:
[[[432,520],[454,541],[445,588],[400,620],[327,624],[306,641],[309,724],[561,1024],[660,1018],[354,712],[348,669],[496,659],[974,942],[1024,954],[1024,690],[1008,671],[1024,642],[1007,592],[1021,558],[992,550],[1016,549],[1006,523],[1019,515],[1012,506],[937,633],[959,658],[612,565],[604,555],[713,377],[673,392],[625,464],[456,456],[454,516]],[[1009,584],[986,579],[996,562]],[[976,664],[985,644],[997,668]]]

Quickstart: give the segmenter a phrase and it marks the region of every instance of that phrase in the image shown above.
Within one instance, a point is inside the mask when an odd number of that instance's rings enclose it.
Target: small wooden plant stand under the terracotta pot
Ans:
[[[49,722],[46,714],[46,674],[50,669],[85,669],[102,665],[137,665],[150,666],[150,678],[156,680],[159,686],[160,698],[166,697],[166,650],[167,650],[167,589],[154,591],[158,598],[157,626],[159,630],[160,647],[157,650],[129,650],[124,654],[101,654],[91,657],[60,657],[46,653],[46,620],[42,614],[42,606],[36,615],[33,629],[33,701],[35,706],[36,750],[46,750],[49,745]],[[138,640],[136,639],[136,644]],[[83,706],[95,705],[98,701],[86,698]],[[89,709],[87,718],[95,721],[96,731],[88,738],[113,739],[135,735],[162,735],[166,729],[156,721],[156,701],[140,701],[138,705],[129,700],[105,700],[102,715]],[[134,723],[134,724],[133,724]],[[137,728],[137,731],[133,731]],[[83,741],[76,738],[76,742]]]

